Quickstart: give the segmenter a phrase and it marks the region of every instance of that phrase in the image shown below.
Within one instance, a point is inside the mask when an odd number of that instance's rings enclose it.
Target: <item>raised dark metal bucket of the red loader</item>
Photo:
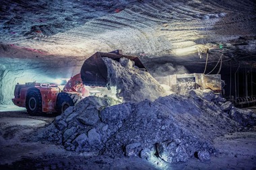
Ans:
[[[96,52],[85,60],[84,65],[81,68],[80,73],[84,85],[98,87],[107,86],[108,69],[104,60],[102,60],[102,57],[112,58],[113,60],[119,60],[121,57],[129,58],[135,62],[135,66],[146,70],[137,56],[122,55],[121,50],[115,50],[113,52]]]

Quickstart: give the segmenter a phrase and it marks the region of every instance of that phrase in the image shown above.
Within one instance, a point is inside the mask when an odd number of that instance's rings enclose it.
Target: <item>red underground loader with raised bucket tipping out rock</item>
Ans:
[[[96,52],[84,62],[81,72],[71,77],[63,89],[57,83],[26,83],[25,85],[18,83],[15,85],[13,103],[26,108],[28,114],[32,116],[40,115],[42,112],[63,113],[80,99],[100,93],[93,87],[107,88],[108,71],[102,57],[113,60],[119,60],[121,57],[129,58],[137,67],[145,69],[137,56],[123,55],[121,50]]]

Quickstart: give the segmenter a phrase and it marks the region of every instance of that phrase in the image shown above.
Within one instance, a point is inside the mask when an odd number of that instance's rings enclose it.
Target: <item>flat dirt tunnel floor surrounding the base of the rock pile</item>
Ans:
[[[35,117],[25,110],[7,110],[0,112],[0,169],[256,169],[256,128],[216,138],[214,146],[220,153],[210,160],[195,157],[185,163],[166,163],[75,153],[55,144],[28,142],[28,134],[51,124],[55,116]]]

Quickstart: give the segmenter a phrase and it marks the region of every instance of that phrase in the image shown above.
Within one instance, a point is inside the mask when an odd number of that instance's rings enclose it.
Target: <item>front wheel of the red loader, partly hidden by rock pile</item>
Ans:
[[[69,106],[73,106],[74,102],[68,93],[61,92],[57,97],[56,110],[58,114],[63,114]]]

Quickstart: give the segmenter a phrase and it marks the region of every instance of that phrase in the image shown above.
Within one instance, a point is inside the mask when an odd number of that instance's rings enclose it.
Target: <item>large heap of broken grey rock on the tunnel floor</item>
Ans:
[[[237,116],[239,115],[239,116]],[[212,91],[189,91],[155,101],[113,105],[108,97],[86,97],[57,116],[36,138],[69,151],[110,157],[159,157],[185,162],[218,153],[217,136],[255,125],[255,114],[242,112]]]

